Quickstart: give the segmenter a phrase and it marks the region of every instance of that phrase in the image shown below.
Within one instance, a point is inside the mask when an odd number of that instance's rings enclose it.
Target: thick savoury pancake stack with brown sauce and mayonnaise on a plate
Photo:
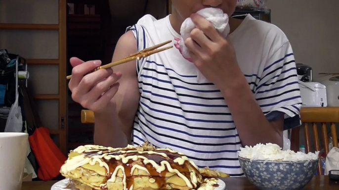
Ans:
[[[184,154],[148,142],[125,148],[80,146],[70,152],[60,173],[80,190],[213,190],[217,178],[229,177],[199,169]]]

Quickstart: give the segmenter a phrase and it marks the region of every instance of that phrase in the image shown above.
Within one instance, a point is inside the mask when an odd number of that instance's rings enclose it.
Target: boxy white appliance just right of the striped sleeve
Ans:
[[[301,107],[326,107],[326,86],[318,82],[299,82],[302,106]]]

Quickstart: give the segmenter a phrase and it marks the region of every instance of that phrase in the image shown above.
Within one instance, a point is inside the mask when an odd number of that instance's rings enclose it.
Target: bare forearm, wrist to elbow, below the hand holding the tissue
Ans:
[[[244,75],[235,78],[232,85],[225,85],[221,92],[244,146],[274,143],[283,147],[284,115],[269,122]]]

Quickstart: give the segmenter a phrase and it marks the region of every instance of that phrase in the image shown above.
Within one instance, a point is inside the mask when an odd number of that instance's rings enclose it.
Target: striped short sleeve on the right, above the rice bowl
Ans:
[[[284,115],[284,130],[301,125],[301,96],[291,44],[286,42],[265,61],[255,98],[269,121]]]

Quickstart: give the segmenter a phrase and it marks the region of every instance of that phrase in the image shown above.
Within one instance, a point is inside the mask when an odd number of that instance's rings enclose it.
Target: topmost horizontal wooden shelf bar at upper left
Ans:
[[[1,30],[58,31],[59,25],[47,24],[0,24]]]

